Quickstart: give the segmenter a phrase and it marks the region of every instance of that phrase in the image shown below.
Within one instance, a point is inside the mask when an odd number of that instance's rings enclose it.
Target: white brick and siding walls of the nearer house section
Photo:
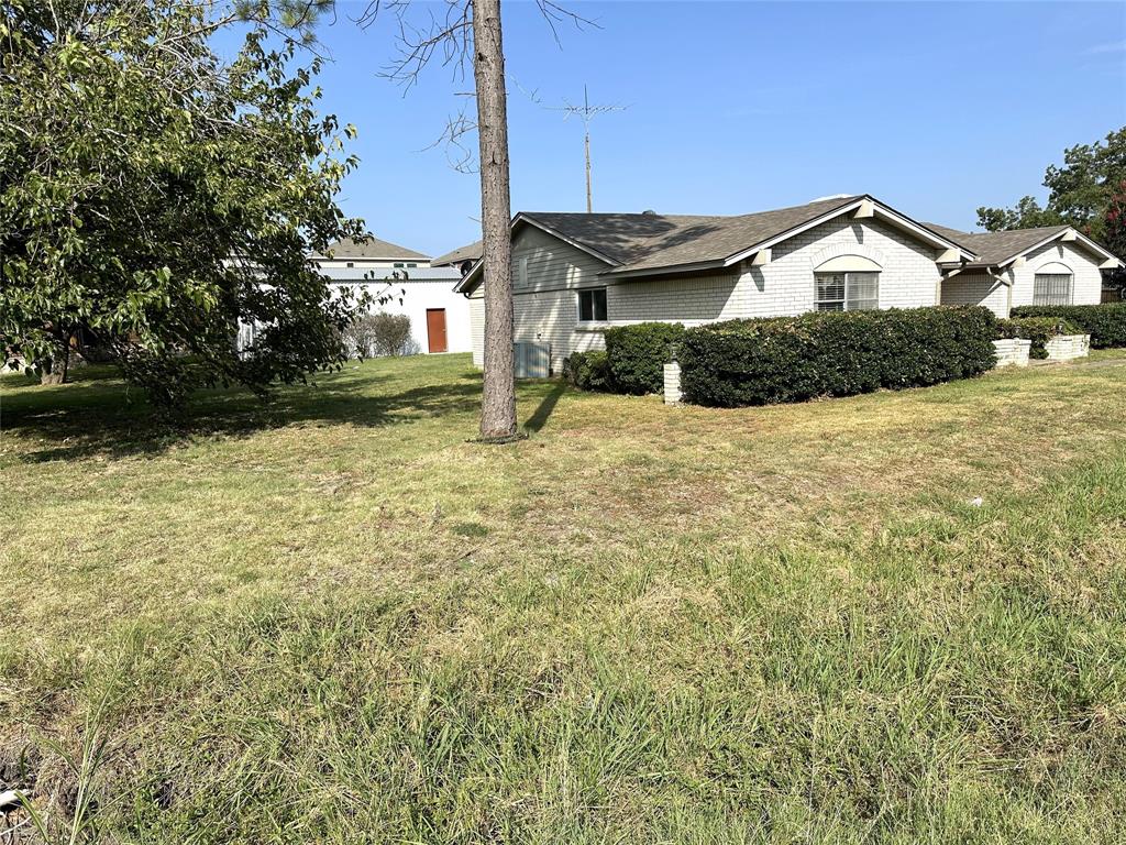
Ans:
[[[518,343],[549,344],[554,372],[573,352],[605,348],[606,324],[579,322],[577,291],[583,287],[607,288],[609,324],[654,320],[698,326],[801,314],[814,306],[814,269],[842,255],[863,256],[882,267],[881,308],[938,304],[941,274],[933,248],[876,219],[825,222],[777,244],[763,267],[645,281],[599,276],[610,265],[526,225],[512,240],[513,337]],[[476,362],[476,336],[473,345]]]

